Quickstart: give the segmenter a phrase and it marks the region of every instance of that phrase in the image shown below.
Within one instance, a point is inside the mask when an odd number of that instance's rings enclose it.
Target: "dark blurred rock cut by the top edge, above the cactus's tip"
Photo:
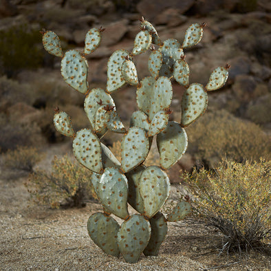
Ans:
[[[137,9],[138,12],[147,19],[147,21],[152,22],[155,17],[157,17],[158,14],[163,12],[166,8],[176,8],[179,10],[180,14],[184,14],[184,12],[191,8],[195,2],[195,0],[142,0],[138,3]]]

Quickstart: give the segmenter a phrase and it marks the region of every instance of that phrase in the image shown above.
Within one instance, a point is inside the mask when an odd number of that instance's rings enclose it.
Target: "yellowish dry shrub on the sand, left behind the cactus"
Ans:
[[[50,205],[51,208],[83,207],[90,197],[97,198],[91,175],[91,171],[65,155],[54,158],[52,173],[34,171],[25,185],[36,204]]]

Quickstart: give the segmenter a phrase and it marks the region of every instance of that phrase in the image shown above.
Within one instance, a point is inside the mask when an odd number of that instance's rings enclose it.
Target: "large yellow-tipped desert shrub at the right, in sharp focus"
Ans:
[[[202,168],[182,177],[195,210],[223,233],[222,251],[260,248],[270,237],[271,161],[223,160],[213,172]]]

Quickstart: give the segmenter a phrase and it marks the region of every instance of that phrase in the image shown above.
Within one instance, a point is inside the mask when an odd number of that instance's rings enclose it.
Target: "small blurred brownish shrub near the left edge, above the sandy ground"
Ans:
[[[33,172],[33,166],[42,158],[41,152],[34,147],[17,147],[4,155],[4,166],[7,169],[20,169]]]

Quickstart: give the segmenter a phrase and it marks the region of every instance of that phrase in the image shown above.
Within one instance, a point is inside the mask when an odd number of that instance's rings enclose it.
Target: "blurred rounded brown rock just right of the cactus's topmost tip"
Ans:
[[[174,27],[181,25],[187,20],[187,17],[180,14],[180,10],[175,8],[168,8],[164,10],[161,14],[153,20],[155,25],[168,25],[169,27]]]

